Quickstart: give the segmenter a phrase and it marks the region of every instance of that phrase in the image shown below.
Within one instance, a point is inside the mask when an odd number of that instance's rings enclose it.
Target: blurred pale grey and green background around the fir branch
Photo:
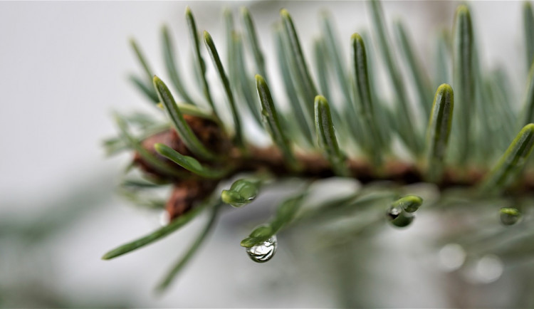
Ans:
[[[383,8],[388,23],[403,19],[417,53],[431,66],[433,38],[451,28],[457,4],[386,1]],[[372,241],[353,242],[332,254],[281,237],[272,261],[253,263],[239,246],[251,228],[241,219],[268,217],[268,207],[290,192],[282,188],[239,213],[227,211],[163,295],[154,293],[155,285],[202,220],[140,251],[101,261],[105,251],[159,226],[159,213],[115,194],[132,156],[106,158],[100,145],[115,134],[113,110],[152,109],[127,80],[128,73],[140,72],[128,39],[137,39],[165,77],[159,30],[167,23],[182,68],[190,68],[187,5],[199,31],[209,31],[219,49],[222,10],[237,17],[239,7],[248,6],[271,76],[277,75],[271,27],[283,7],[306,51],[319,33],[316,21],[324,9],[335,17],[345,58],[350,35],[370,28],[369,8],[361,1],[0,2],[0,307],[436,308],[533,301],[522,293],[534,288],[528,277],[512,289],[517,269],[503,269],[496,261],[486,261],[493,270],[489,277],[449,272],[455,268],[447,261],[451,255],[461,258],[461,250],[424,246],[436,224],[424,214],[410,229],[384,229]],[[520,89],[525,76],[521,2],[470,6],[483,61],[517,73],[511,84]],[[208,67],[219,85],[211,63]],[[273,88],[278,87],[275,81]]]

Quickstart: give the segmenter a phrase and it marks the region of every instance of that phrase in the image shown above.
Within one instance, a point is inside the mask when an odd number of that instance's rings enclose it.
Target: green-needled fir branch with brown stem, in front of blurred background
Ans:
[[[397,227],[414,224],[417,211],[459,211],[468,206],[476,209],[478,204],[484,204],[484,211],[499,214],[505,225],[523,224],[519,219],[524,209],[518,208],[519,211],[510,205],[530,201],[529,190],[533,187],[532,177],[525,176],[525,170],[530,172],[528,156],[534,147],[534,124],[530,123],[534,122],[534,18],[530,4],[525,4],[523,11],[530,73],[521,112],[513,108],[514,96],[505,72],[481,65],[473,28],[476,23],[471,20],[466,5],[456,10],[453,33],[443,31],[437,36],[436,55],[432,58],[434,74],[429,74],[422,65],[409,31],[401,21],[394,23],[395,40],[390,40],[378,1],[370,2],[372,40],[377,45],[377,55],[373,53],[371,37],[366,31],[360,31],[350,40],[342,40],[350,43],[349,63],[345,63],[342,41],[337,38],[332,19],[322,14],[320,37],[313,43],[317,80],[311,74],[297,27],[286,9],[280,11],[281,17],[273,28],[272,56],[261,48],[264,35],[256,31],[252,14],[248,9],[241,9],[240,13],[241,31],[234,25],[231,11],[224,12],[224,63],[214,39],[204,31],[206,51],[229,106],[211,96],[199,32],[189,7],[185,17],[197,71],[192,75],[197,77],[197,90],[204,94],[207,104],[194,102],[190,90],[184,86],[182,80],[187,77],[177,66],[167,27],[162,28],[164,63],[172,85],[185,103],[175,102],[172,91],[152,71],[137,43],[131,41],[144,74],[142,78],[131,75],[130,79],[152,105],[160,103],[168,120],[162,122],[139,114],[117,115],[120,135],[106,140],[105,148],[110,155],[123,150],[136,152],[153,172],[172,179],[129,177],[122,182],[122,194],[136,204],[162,209],[164,201],[142,192],[169,185],[180,189],[182,181],[213,184],[226,182],[237,174],[239,178],[221,193],[215,189],[214,194],[202,192],[201,196],[195,196],[196,204],[167,226],[106,253],[104,259],[146,246],[210,211],[204,229],[159,286],[166,288],[213,229],[219,209],[224,209],[221,204],[238,208],[251,204],[264,184],[283,181],[286,177],[300,179],[306,184],[305,189],[283,201],[273,218],[253,229],[241,241],[241,246],[252,248],[292,229],[314,230],[318,222],[328,224],[352,216],[364,218],[351,229],[336,230],[337,234],[328,238],[328,246],[336,246],[370,236],[388,221]],[[375,85],[377,61],[382,61],[387,83],[392,85],[391,103],[385,102],[386,98]],[[281,76],[268,76],[267,63],[277,66]],[[407,68],[409,76],[403,75],[401,66]],[[283,89],[275,88],[277,78],[281,79]],[[432,87],[437,85],[431,104]],[[340,95],[335,95],[336,92]],[[410,104],[410,92],[414,93],[417,104]],[[273,97],[286,100],[287,108]],[[231,124],[219,117],[217,109],[222,108],[229,108]],[[216,154],[210,150],[207,144],[214,141],[203,140],[204,132],[194,133],[184,115],[209,119],[219,126],[217,130],[229,132],[228,141],[217,141],[228,142],[229,151]],[[250,116],[271,137],[271,147],[258,147],[244,134],[247,128],[243,120]],[[428,124],[426,135],[425,124]],[[512,140],[520,127],[523,129]],[[166,130],[176,130],[179,142],[192,155],[181,154],[164,142],[155,142],[153,150],[143,145],[147,137]],[[409,159],[398,155],[396,140],[409,151]],[[508,150],[503,154],[507,145]],[[347,196],[315,201],[313,183],[334,175],[359,180],[362,188]],[[422,198],[411,194],[411,187],[405,186],[414,182],[427,182],[441,191],[441,197],[426,200],[425,206],[419,209]],[[456,186],[460,188],[451,189]],[[478,214],[478,210],[473,213]],[[459,233],[470,229],[473,227],[460,226]],[[508,234],[501,237],[506,239]],[[461,236],[457,240],[464,241]],[[525,241],[532,241],[532,237]],[[507,248],[498,247],[501,251],[495,252],[504,256],[512,254],[513,248]],[[480,254],[480,249],[477,250],[476,254]]]

